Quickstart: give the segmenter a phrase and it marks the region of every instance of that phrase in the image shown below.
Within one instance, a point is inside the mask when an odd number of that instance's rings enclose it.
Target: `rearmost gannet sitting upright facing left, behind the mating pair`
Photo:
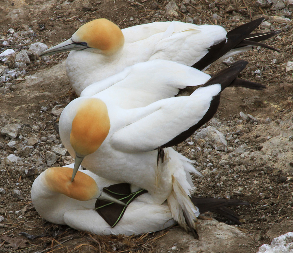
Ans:
[[[154,22],[120,30],[107,19],[95,19],[40,56],[71,51],[66,71],[79,96],[88,85],[139,62],[164,59],[203,70],[216,60],[251,50],[251,45],[276,50],[259,41],[280,31],[251,34],[263,20],[256,19],[227,33],[218,25],[179,21]]]

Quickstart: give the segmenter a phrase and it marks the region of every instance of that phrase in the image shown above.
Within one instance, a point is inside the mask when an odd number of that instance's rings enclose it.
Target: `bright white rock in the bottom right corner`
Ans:
[[[293,232],[274,238],[271,245],[263,244],[257,253],[293,253]]]

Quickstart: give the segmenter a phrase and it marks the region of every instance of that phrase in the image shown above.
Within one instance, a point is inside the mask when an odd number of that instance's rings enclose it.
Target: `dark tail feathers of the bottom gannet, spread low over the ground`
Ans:
[[[195,206],[197,206],[197,208],[199,209],[199,213],[205,213],[207,211],[218,213],[237,224],[241,224],[237,213],[227,208],[227,206],[249,205],[248,202],[241,200],[199,198],[195,196],[191,196],[191,201]]]

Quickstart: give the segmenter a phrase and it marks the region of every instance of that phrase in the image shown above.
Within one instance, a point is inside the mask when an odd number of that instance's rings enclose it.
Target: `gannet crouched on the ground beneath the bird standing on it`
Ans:
[[[75,180],[73,183],[70,180],[72,167],[73,164],[46,169],[33,182],[31,191],[33,205],[47,221],[67,224],[75,229],[98,235],[128,236],[159,231],[176,223],[167,203],[162,205],[153,203],[152,195],[144,193],[128,205],[117,225],[110,226],[95,210],[96,194],[93,189],[102,189],[117,182],[99,177],[88,170],[82,170],[78,171],[75,177],[78,187],[71,187],[76,184]],[[60,178],[63,181],[59,180]],[[65,192],[62,190],[64,184],[70,189],[70,194],[66,193],[67,190]],[[196,197],[191,199],[195,205],[198,205],[200,213],[211,210],[236,223],[240,223],[239,218],[226,206],[248,204],[240,200]]]

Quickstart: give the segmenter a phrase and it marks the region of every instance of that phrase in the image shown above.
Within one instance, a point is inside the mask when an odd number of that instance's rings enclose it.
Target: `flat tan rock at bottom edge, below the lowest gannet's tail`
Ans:
[[[199,240],[187,234],[182,229],[170,229],[168,234],[157,239],[155,252],[171,251],[174,245],[180,253],[187,252],[221,252],[243,253],[250,252],[253,239],[237,227],[229,226],[215,220],[199,220],[197,225]]]

